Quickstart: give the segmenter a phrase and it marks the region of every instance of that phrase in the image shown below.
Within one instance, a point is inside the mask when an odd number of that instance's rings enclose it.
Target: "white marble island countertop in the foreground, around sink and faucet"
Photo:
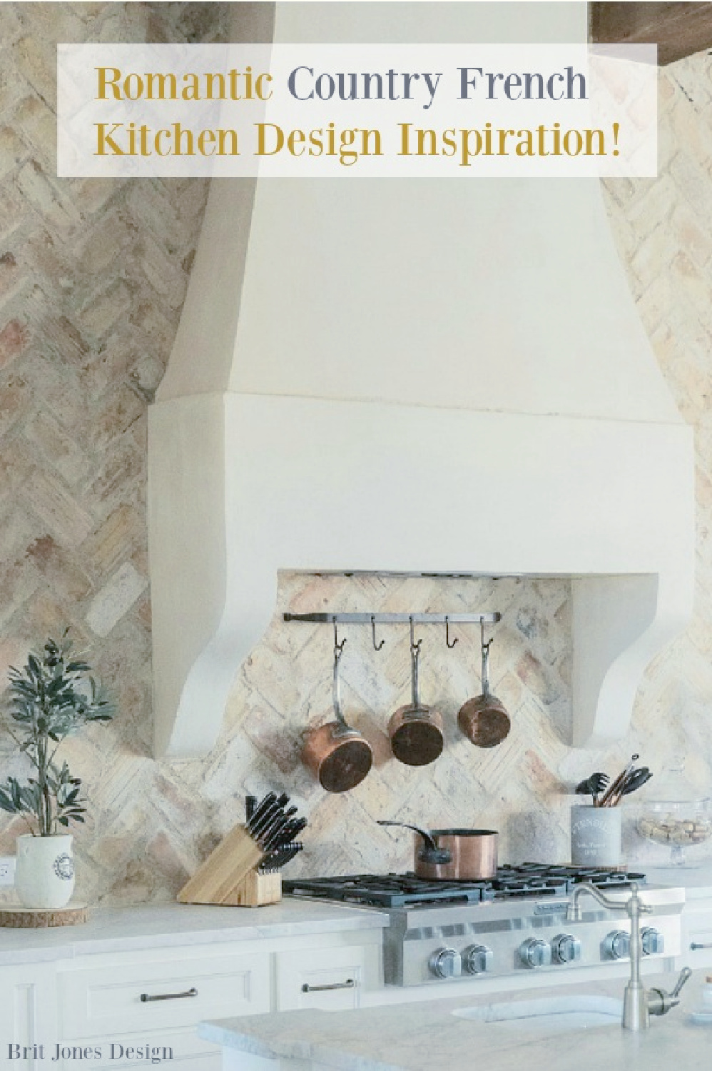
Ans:
[[[532,999],[531,991],[496,996],[388,1005],[348,1012],[292,1011],[201,1023],[199,1035],[227,1049],[273,1059],[300,1059],[339,1071],[709,1071],[712,1026],[693,1024],[687,1012],[701,1007],[708,971],[698,970],[683,990],[682,1002],[650,1029],[634,1034],[618,1023],[562,1032],[536,1020],[486,1023],[459,1019],[455,1008]],[[647,984],[671,989],[675,975]],[[622,998],[621,981],[537,990],[535,998],[575,994]]]

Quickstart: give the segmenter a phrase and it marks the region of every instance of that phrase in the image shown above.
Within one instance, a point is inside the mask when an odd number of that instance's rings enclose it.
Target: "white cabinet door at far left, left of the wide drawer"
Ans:
[[[3,1067],[6,1060],[9,1067],[35,1071],[50,1058],[49,1049],[57,1037],[55,986],[52,963],[0,967],[0,1056]],[[44,1045],[44,1050],[40,1050],[40,1045]]]

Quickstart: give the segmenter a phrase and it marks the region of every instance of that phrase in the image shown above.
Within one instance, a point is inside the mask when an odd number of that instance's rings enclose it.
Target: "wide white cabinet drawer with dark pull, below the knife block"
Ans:
[[[269,954],[258,950],[193,960],[147,955],[101,969],[62,971],[58,982],[61,1038],[110,1042],[119,1034],[180,1029],[202,1019],[270,1010]]]

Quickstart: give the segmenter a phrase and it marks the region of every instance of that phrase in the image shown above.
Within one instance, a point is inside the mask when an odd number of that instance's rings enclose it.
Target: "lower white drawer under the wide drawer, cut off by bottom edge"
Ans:
[[[47,1056],[56,1055],[52,1045]],[[60,1071],[77,1071],[85,1066],[93,1071],[124,1071],[162,1064],[183,1071],[221,1071],[221,1050],[199,1038],[194,1029],[163,1030],[157,1035],[122,1034],[93,1042],[86,1038],[59,1042],[59,1059],[52,1067]]]

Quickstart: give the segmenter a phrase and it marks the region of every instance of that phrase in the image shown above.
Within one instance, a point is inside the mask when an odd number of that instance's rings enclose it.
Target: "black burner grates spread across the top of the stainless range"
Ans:
[[[491,881],[429,881],[414,874],[347,874],[284,880],[285,892],[314,900],[335,900],[370,907],[414,907],[420,904],[478,904],[517,896],[565,896],[580,881],[596,886],[642,885],[645,874],[585,866],[521,863],[500,866]]]

